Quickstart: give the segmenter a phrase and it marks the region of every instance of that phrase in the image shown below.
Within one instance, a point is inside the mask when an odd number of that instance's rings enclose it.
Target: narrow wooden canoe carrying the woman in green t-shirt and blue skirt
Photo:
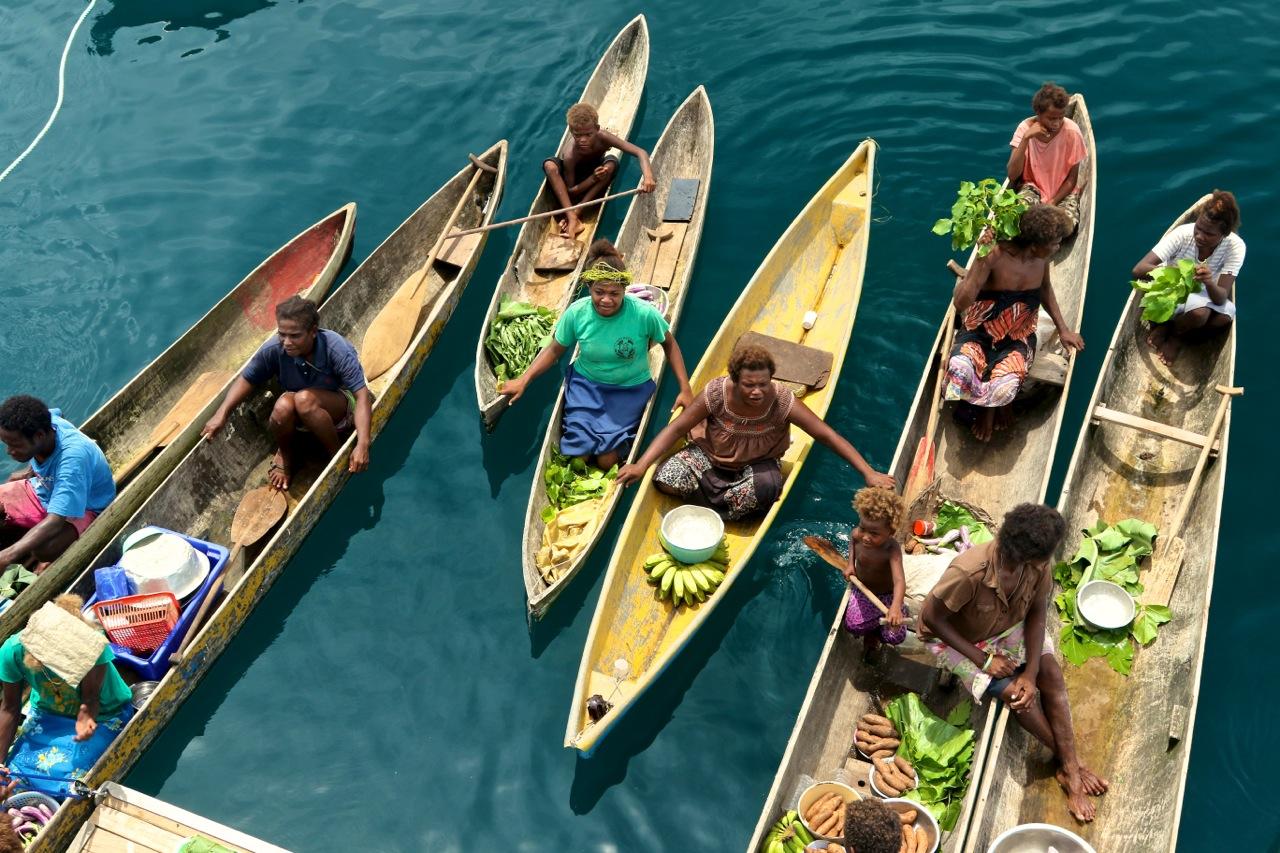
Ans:
[[[635,197],[631,207],[627,210],[626,219],[622,220],[622,227],[618,229],[618,238],[614,242],[622,256],[627,260],[628,269],[635,273],[639,282],[643,272],[649,269],[649,260],[655,250],[653,240],[645,233],[645,228],[659,228],[662,225],[662,211],[667,204],[667,192],[671,190],[672,179],[699,179],[700,186],[698,188],[698,199],[694,204],[694,214],[689,220],[687,231],[684,233],[682,245],[675,248],[664,247],[662,251],[662,257],[664,259],[663,266],[666,268],[672,260],[675,264],[671,288],[667,291],[667,320],[671,323],[672,334],[676,333],[676,327],[680,323],[681,309],[685,304],[685,296],[689,292],[689,280],[694,272],[694,260],[698,255],[698,242],[703,236],[703,220],[707,215],[707,193],[710,191],[712,160],[714,154],[716,122],[712,118],[712,105],[707,99],[707,90],[699,86],[685,99],[685,102],[680,105],[676,114],[671,117],[671,122],[667,123],[667,128],[662,132],[658,143],[653,149],[653,172],[658,179],[658,188],[649,195]],[[675,241],[677,237],[672,236],[671,240]],[[666,260],[668,257],[672,260]],[[667,356],[662,347],[650,348],[649,373],[660,383],[666,369]],[[639,452],[657,401],[658,393],[655,391],[654,396],[649,400],[649,405],[645,406],[644,415],[640,418],[640,426],[636,429],[636,441],[627,455],[627,462],[632,461]],[[538,567],[535,556],[541,546],[543,529],[545,528],[540,516],[543,507],[547,506],[547,483],[543,474],[550,461],[552,451],[559,448],[563,409],[564,387],[562,383],[559,397],[556,400],[556,409],[552,410],[552,420],[547,429],[547,437],[543,439],[539,465],[534,471],[534,482],[529,494],[529,508],[525,512],[525,540],[521,557],[525,570],[525,593],[527,596],[529,613],[535,619],[543,617],[547,608],[556,601],[556,597],[561,594],[582,567],[582,564],[586,562],[591,549],[604,532],[604,525],[608,524],[609,516],[613,515],[613,510],[622,497],[621,489],[609,492],[600,506],[589,544],[580,549],[568,565],[557,567],[558,576],[548,584]]]

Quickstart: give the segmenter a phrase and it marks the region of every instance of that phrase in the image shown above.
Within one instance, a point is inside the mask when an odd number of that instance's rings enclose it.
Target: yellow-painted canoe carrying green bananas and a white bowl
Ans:
[[[724,374],[730,353],[744,333],[800,341],[804,315],[814,310],[818,321],[803,342],[831,352],[833,361],[827,384],[805,394],[804,402],[819,418],[826,415],[861,297],[874,161],[876,143],[867,140],[795,218],[755,270],[698,362],[690,377],[695,392]],[[645,474],[609,558],[604,589],[591,619],[570,707],[566,747],[590,756],[631,703],[698,633],[769,532],[812,447],[813,439],[792,428],[791,447],[782,457],[781,497],[763,517],[724,524],[730,549],[724,581],[705,602],[680,610],[658,599],[641,566],[648,555],[662,548],[658,542],[662,517],[680,502],[653,488],[657,465]],[[630,676],[621,681],[613,676],[613,663],[618,658],[630,665]],[[586,701],[595,693],[613,703],[613,708],[591,722]]]

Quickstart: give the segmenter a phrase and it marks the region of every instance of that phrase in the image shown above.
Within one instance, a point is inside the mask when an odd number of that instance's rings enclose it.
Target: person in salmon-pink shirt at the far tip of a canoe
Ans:
[[[1032,97],[1036,115],[1023,119],[1009,141],[1012,151],[1009,182],[1028,205],[1053,205],[1071,220],[1070,234],[1080,222],[1080,163],[1084,133],[1066,118],[1071,97],[1055,83],[1044,83]]]

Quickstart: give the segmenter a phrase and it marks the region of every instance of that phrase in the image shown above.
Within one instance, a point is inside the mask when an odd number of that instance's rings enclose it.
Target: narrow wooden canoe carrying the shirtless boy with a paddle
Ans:
[[[627,138],[627,134],[631,133],[631,124],[635,122],[636,109],[640,106],[640,96],[644,92],[644,81],[648,73],[649,24],[641,14],[632,18],[609,44],[608,50],[595,65],[595,70],[591,72],[579,101],[585,101],[596,109],[600,114],[602,128]],[[567,105],[561,109],[564,106]],[[566,128],[554,154],[558,155],[570,138]],[[609,188],[609,192],[616,191],[616,184]],[[534,196],[529,215],[558,207],[559,202],[544,179],[538,188],[538,195]],[[476,342],[476,401],[480,405],[480,419],[485,429],[493,430],[498,425],[498,419],[507,411],[507,398],[498,393],[498,378],[494,375],[489,355],[484,348],[484,341],[489,337],[489,325],[498,315],[502,300],[506,297],[517,302],[531,302],[553,309],[557,314],[563,313],[573,300],[573,293],[577,289],[577,274],[586,261],[586,247],[595,240],[595,229],[599,227],[603,214],[603,204],[580,211],[582,224],[586,225],[586,229],[577,237],[582,251],[579,255],[577,266],[566,273],[543,275],[534,270],[543,243],[547,242],[548,237],[559,233],[556,218],[547,216],[520,227],[516,247],[498,279],[498,287],[489,302],[484,325],[480,328],[480,339]]]

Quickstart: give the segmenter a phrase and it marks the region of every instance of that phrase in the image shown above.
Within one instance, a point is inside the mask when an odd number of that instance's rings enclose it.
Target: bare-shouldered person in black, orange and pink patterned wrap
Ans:
[[[977,409],[973,434],[991,441],[1010,421],[1014,400],[1036,357],[1036,325],[1044,306],[1062,346],[1083,350],[1084,338],[1066,325],[1050,280],[1050,259],[1071,233],[1070,218],[1052,205],[1032,205],[1019,233],[974,259],[956,283],[960,327],[947,362],[947,400]],[[991,232],[982,240],[989,241]],[[998,415],[998,418],[997,418]]]

